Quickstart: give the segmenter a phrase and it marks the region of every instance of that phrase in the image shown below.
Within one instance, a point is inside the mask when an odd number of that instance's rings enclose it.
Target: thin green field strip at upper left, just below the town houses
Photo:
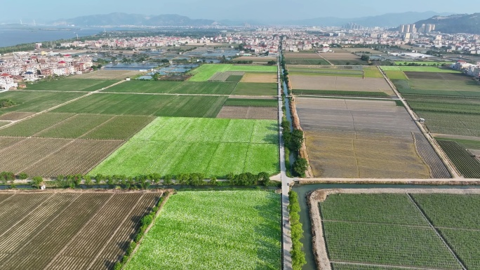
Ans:
[[[27,85],[28,90],[85,91],[92,92],[118,83],[117,80],[60,79],[57,81],[41,81]]]

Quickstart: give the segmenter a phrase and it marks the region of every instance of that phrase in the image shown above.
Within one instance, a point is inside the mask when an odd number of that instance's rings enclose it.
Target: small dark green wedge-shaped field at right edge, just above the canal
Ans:
[[[444,149],[448,158],[456,168],[467,178],[480,178],[480,162],[463,149],[460,144],[452,141],[438,140],[440,147]]]

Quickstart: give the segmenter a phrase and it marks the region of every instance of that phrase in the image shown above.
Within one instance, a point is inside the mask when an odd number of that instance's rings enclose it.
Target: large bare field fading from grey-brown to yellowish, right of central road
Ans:
[[[390,101],[296,98],[315,177],[429,178],[417,154],[419,132]]]

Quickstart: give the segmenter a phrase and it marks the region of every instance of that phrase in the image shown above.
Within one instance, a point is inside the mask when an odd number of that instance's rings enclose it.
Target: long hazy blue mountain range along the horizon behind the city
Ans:
[[[127,13],[110,13],[105,15],[88,15],[72,19],[60,19],[50,22],[52,25],[78,25],[78,26],[200,26],[200,25],[227,25],[239,26],[248,23],[250,25],[309,25],[309,26],[343,26],[349,23],[361,25],[364,27],[397,27],[402,24],[424,20],[435,15],[451,15],[451,13],[427,12],[407,12],[407,13],[388,13],[385,15],[369,16],[361,18],[315,18],[305,20],[194,20],[182,15],[140,15]]]

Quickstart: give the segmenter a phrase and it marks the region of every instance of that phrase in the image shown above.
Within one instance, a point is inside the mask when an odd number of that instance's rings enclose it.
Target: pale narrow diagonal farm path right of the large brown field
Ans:
[[[413,112],[413,110],[411,109],[410,105],[408,105],[406,100],[401,96],[399,90],[397,90],[396,87],[394,86],[394,84],[392,83],[392,81],[390,81],[388,79],[385,72],[383,72],[383,70],[380,69],[380,67],[377,67],[377,68],[380,71],[380,73],[382,74],[385,81],[387,81],[387,83],[389,84],[390,88],[392,88],[392,90],[394,90],[395,95],[400,98],[400,100],[404,104],[404,107],[406,108],[408,114],[410,114],[411,118],[413,119],[413,121],[415,121],[415,123],[418,126],[418,128],[420,129],[420,131],[422,131],[423,135],[425,135],[428,142],[432,145],[433,149],[435,150],[436,154],[439,156],[441,161],[444,163],[444,165],[446,166],[446,168],[448,169],[450,174],[453,175],[453,178],[461,178],[460,173],[458,173],[457,168],[455,168],[455,166],[453,166],[450,159],[446,156],[444,150],[441,149],[441,147],[436,142],[434,137],[432,137],[432,135],[430,133],[428,133],[427,130],[425,130],[425,128],[422,126],[422,124],[419,123],[417,115],[415,114],[415,112]]]

